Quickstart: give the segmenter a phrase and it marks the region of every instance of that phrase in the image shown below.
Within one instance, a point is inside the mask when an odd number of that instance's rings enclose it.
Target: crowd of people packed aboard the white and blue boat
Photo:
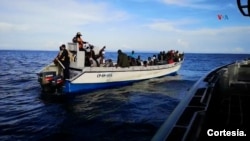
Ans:
[[[98,53],[94,51],[93,45],[89,44],[86,41],[83,41],[81,38],[82,34],[77,32],[73,37],[72,42],[77,43],[79,51],[85,51],[85,66],[91,67],[130,67],[130,66],[152,66],[152,65],[163,65],[171,64],[174,62],[179,62],[183,60],[184,53],[179,53],[179,51],[169,50],[167,52],[161,51],[157,55],[149,56],[146,60],[142,60],[141,56],[135,56],[135,52],[131,51],[129,55],[122,50],[117,51],[117,62],[114,63],[112,59],[105,60],[105,49],[106,46],[103,46]],[[59,53],[54,60],[55,64],[61,63],[58,66],[63,67],[63,76],[65,79],[69,78],[69,65],[72,59],[71,52],[66,49],[65,44],[62,44],[59,47]],[[59,69],[59,74],[62,72],[62,68]]]

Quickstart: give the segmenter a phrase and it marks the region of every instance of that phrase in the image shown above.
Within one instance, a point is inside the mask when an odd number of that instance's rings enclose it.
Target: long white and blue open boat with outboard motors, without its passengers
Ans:
[[[63,81],[59,77],[58,66],[51,63],[38,73],[38,81],[43,91],[60,90],[64,94],[72,94],[114,88],[137,81],[174,75],[182,64],[182,61],[179,61],[151,66],[91,67],[84,65],[85,52],[79,50],[78,44],[68,43],[67,50],[77,58],[70,62],[70,78]],[[99,50],[96,49],[95,52]]]

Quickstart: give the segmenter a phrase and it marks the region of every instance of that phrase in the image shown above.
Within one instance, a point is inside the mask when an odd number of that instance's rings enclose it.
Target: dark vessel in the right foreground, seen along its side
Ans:
[[[250,14],[250,2],[240,12]],[[248,13],[247,13],[248,12]],[[250,59],[209,72],[189,89],[187,97],[157,131],[152,141],[197,141],[213,137],[250,136]]]

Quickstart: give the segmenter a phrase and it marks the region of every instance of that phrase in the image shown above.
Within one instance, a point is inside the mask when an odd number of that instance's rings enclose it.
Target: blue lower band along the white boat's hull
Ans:
[[[177,72],[173,72],[164,76],[174,76]],[[160,76],[160,77],[164,77]],[[159,78],[159,77],[158,77]],[[146,80],[146,79],[144,79]],[[66,80],[64,93],[87,93],[98,89],[110,89],[121,86],[131,85],[134,82],[143,81],[143,80],[130,80],[130,81],[120,81],[120,82],[107,82],[107,83],[84,83],[84,84],[72,84],[70,81]]]

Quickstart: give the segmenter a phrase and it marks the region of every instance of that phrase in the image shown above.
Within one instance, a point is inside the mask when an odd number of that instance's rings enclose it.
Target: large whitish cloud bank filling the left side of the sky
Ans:
[[[2,0],[0,17],[0,48],[53,50],[78,31],[97,32],[102,25],[129,19],[129,14],[103,1]]]

